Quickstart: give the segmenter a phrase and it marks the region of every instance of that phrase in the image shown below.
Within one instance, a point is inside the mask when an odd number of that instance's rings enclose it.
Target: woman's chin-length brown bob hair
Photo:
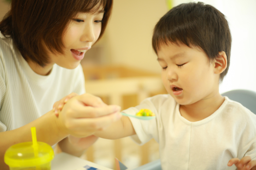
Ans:
[[[11,10],[0,23],[0,31],[12,38],[26,61],[45,66],[47,51],[63,53],[62,37],[73,17],[79,12],[105,11],[101,38],[112,10],[112,0],[12,0]],[[44,43],[42,43],[44,42]]]

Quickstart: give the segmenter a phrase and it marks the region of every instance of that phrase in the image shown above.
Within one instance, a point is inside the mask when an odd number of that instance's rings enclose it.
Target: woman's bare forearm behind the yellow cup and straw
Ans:
[[[0,132],[0,167],[1,170],[9,169],[4,163],[5,151],[12,145],[22,142],[32,141],[31,127],[36,127],[37,141],[54,145],[68,134],[60,130],[58,126],[58,118],[53,111],[44,114],[42,117],[26,124],[20,128]]]

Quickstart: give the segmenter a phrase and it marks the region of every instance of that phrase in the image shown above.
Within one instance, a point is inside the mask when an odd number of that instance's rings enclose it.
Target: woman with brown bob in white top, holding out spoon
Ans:
[[[102,36],[111,8],[112,0],[12,0],[0,23],[1,169],[8,169],[7,148],[32,140],[32,126],[38,141],[59,142],[64,152],[80,156],[96,141],[95,131],[120,119],[118,106],[84,94],[80,65]],[[56,117],[53,103],[68,94]]]

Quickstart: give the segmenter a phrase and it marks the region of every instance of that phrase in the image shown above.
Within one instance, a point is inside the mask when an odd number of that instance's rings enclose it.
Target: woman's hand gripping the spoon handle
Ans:
[[[122,116],[119,106],[108,106],[99,97],[91,94],[73,94],[70,97],[59,112],[57,124],[61,131],[75,137],[93,135],[95,131],[107,128]]]

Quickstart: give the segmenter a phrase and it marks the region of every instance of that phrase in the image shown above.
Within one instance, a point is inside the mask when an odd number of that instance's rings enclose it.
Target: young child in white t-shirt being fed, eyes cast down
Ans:
[[[140,145],[154,138],[163,170],[256,169],[256,115],[219,94],[230,63],[225,16],[201,2],[178,5],[156,24],[152,44],[169,94],[123,112],[146,108],[156,119],[122,117],[94,135],[133,135]]]

